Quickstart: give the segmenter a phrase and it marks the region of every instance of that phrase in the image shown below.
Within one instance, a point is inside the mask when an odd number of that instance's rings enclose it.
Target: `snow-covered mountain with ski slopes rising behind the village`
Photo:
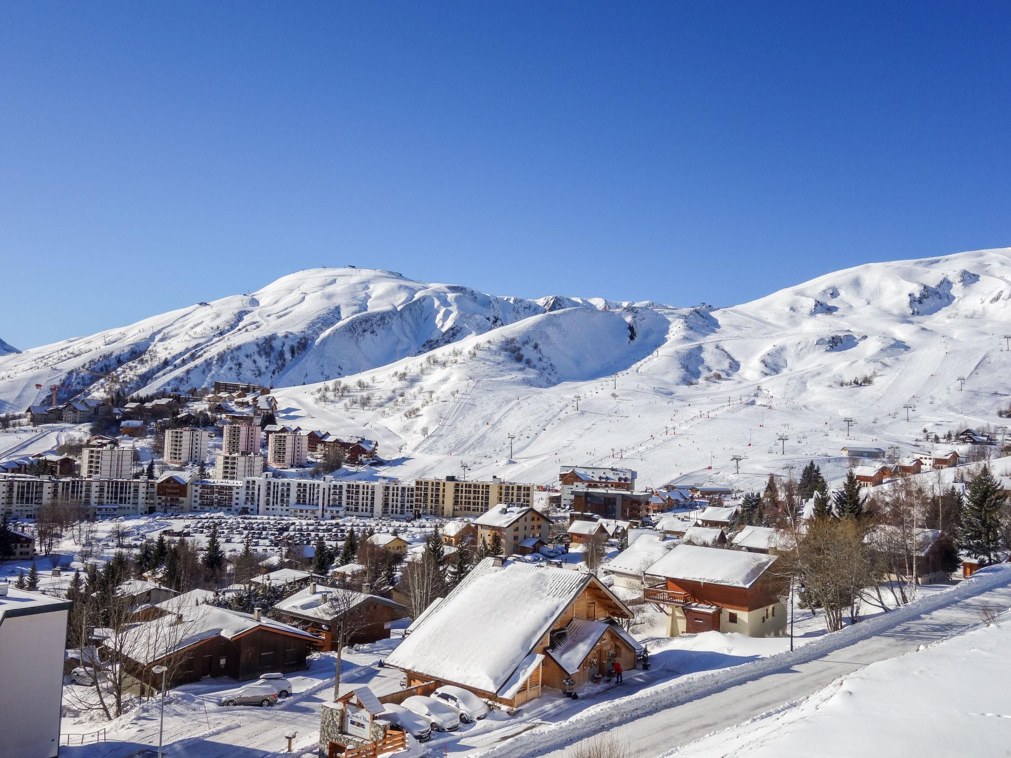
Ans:
[[[724,476],[707,467],[732,455],[742,477],[837,456],[847,416],[854,438],[901,450],[925,427],[1000,423],[1009,323],[1011,250],[868,264],[726,308],[316,269],[0,357],[0,403],[23,409],[57,382],[100,392],[81,369],[133,391],[240,378],[273,384],[290,420],[378,439],[401,476],[462,461],[548,483],[559,463],[624,459],[658,485]]]

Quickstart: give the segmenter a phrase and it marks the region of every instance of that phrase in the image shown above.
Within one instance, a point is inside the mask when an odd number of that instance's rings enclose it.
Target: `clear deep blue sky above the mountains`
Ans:
[[[1008,3],[0,4],[0,339],[355,264],[733,304],[1011,245]]]

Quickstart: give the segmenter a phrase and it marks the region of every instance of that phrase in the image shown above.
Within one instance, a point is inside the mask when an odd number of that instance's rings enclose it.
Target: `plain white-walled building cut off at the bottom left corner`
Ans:
[[[72,603],[0,584],[0,753],[60,753],[67,613]]]

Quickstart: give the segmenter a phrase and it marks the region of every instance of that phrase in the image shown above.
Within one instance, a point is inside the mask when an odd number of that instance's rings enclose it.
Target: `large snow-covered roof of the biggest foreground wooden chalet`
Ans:
[[[503,693],[558,618],[594,583],[588,573],[485,558],[390,654],[396,668]],[[614,595],[617,606],[624,604]],[[522,684],[523,680],[519,682]]]

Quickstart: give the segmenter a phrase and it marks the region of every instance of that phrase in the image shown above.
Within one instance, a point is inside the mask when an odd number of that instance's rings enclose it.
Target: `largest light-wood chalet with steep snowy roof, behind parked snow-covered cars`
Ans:
[[[613,661],[635,668],[642,648],[618,620],[631,611],[595,576],[485,558],[445,599],[408,628],[386,659],[407,685],[455,684],[515,707],[607,675]]]

